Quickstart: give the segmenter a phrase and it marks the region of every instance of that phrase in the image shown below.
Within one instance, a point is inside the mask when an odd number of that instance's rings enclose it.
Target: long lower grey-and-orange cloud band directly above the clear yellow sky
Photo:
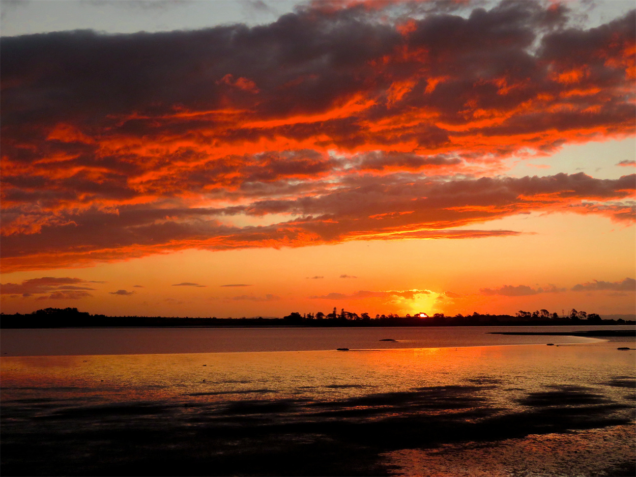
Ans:
[[[258,200],[223,209],[120,207],[118,214],[87,211],[73,225],[44,226],[39,233],[3,237],[3,267],[95,263],[158,250],[224,250],[301,247],[350,240],[465,239],[517,235],[511,230],[465,227],[529,211],[600,214],[632,223],[635,205],[621,202],[635,189],[636,176],[594,179],[586,174],[545,177],[435,179],[392,174],[354,177],[312,197]],[[288,214],[263,226],[232,226],[214,217]],[[118,244],[114,247],[113,243]]]

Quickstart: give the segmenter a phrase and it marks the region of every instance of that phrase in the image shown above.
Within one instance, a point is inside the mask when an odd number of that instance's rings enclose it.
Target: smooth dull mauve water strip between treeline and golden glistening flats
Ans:
[[[574,336],[511,336],[488,333],[581,331],[595,328],[597,327],[4,329],[0,333],[0,347],[3,356],[441,348],[593,342],[595,340],[590,338]],[[630,329],[630,326],[613,326],[612,329]],[[380,341],[385,338],[397,342]]]

